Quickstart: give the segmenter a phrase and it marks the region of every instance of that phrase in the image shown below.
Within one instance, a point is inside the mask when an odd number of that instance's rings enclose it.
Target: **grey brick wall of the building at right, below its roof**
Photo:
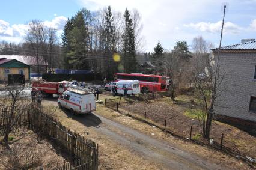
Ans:
[[[215,54],[216,56],[217,54]],[[221,53],[220,77],[216,99],[216,114],[254,121],[256,113],[249,112],[251,96],[256,96],[255,53]]]

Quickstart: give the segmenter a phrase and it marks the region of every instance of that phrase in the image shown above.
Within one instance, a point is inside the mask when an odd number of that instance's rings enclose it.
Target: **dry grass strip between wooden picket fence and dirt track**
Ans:
[[[44,101],[43,105],[49,108],[55,107],[48,101]],[[99,107],[100,105],[97,105],[97,109]],[[145,160],[143,157],[129,151],[128,148],[117,144],[109,136],[99,133],[93,127],[87,127],[69,116],[61,109],[58,109],[54,114],[54,117],[64,126],[99,144],[99,169],[161,169],[161,165]]]

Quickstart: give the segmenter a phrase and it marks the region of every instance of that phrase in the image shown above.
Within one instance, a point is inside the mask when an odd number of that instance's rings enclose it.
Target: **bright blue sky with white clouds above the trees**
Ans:
[[[0,41],[20,43],[28,23],[41,20],[61,35],[67,18],[85,7],[90,11],[111,5],[112,10],[136,8],[142,17],[145,38],[142,51],[152,52],[157,41],[171,50],[177,41],[203,38],[215,47],[219,44],[223,5],[227,4],[222,45],[240,43],[241,39],[256,38],[256,0],[8,0],[1,2]]]

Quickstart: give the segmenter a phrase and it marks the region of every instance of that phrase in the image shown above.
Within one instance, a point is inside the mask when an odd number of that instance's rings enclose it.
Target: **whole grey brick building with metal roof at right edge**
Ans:
[[[212,49],[216,58],[218,49]],[[219,65],[223,80],[216,114],[232,124],[256,129],[256,41],[221,47]]]

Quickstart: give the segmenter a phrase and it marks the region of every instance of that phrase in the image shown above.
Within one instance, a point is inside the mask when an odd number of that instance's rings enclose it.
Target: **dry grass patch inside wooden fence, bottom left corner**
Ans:
[[[0,169],[56,169],[64,162],[49,142],[38,143],[34,132],[12,136],[12,153],[0,145]]]

